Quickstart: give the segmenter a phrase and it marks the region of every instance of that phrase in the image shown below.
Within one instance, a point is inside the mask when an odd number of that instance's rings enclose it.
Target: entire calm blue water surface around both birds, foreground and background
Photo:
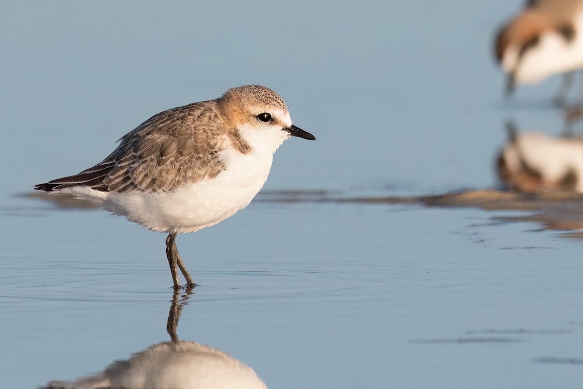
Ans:
[[[578,213],[412,201],[495,187],[508,118],[563,129],[558,78],[501,99],[491,38],[521,3],[6,5],[0,388],[170,340],[163,234],[23,194],[245,83],[282,94],[318,141],[287,141],[258,201],[178,237],[200,284],[178,338],[270,388],[580,387],[581,240],[545,224]],[[403,201],[328,201],[379,197]]]

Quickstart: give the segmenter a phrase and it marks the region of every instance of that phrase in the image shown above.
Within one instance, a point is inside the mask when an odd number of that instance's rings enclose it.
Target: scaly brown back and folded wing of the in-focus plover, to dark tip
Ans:
[[[216,104],[203,101],[154,115],[121,138],[99,164],[35,189],[83,185],[110,192],[157,192],[215,177],[224,170],[219,152],[225,125]]]

